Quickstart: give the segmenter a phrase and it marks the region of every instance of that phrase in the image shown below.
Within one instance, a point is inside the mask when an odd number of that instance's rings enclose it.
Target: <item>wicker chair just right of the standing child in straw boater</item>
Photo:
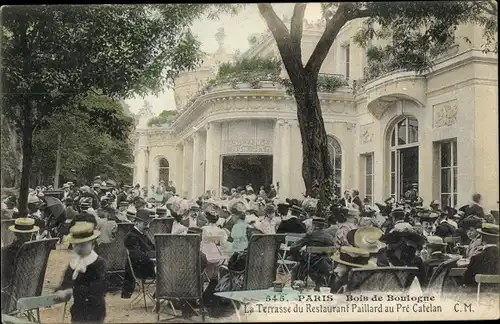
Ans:
[[[127,263],[127,249],[125,248],[124,241],[128,232],[133,227],[134,224],[131,223],[118,223],[115,239],[111,243],[101,243],[95,248],[95,252],[104,259],[106,264],[106,277],[108,280],[119,278],[120,287]],[[109,281],[114,282],[113,280]],[[113,285],[110,285],[110,288],[113,288]]]

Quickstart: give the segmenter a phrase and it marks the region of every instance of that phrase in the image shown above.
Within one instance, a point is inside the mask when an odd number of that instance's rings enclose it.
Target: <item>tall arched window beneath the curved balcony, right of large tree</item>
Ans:
[[[418,186],[418,120],[405,117],[391,130],[391,196],[400,200]]]

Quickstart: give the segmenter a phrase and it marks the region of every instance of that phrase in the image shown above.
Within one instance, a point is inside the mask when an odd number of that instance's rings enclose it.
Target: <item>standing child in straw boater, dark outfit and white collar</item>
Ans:
[[[105,266],[104,260],[92,249],[101,233],[88,222],[77,222],[69,232],[68,240],[76,256],[69,263],[56,294],[60,301],[73,297],[71,323],[104,323]]]

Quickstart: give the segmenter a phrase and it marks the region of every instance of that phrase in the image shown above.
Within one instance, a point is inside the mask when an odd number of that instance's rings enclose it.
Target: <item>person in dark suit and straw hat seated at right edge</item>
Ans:
[[[483,223],[478,233],[481,234],[481,246],[474,250],[467,270],[464,273],[464,284],[475,286],[477,274],[499,274],[500,262],[498,257],[498,225]],[[498,288],[497,288],[498,289]]]

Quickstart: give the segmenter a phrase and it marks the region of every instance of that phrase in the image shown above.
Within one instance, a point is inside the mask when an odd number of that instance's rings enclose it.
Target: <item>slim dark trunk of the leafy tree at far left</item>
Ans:
[[[19,215],[28,215],[28,191],[30,185],[31,166],[33,164],[33,127],[26,123],[23,129],[23,162],[21,184],[19,188]]]

